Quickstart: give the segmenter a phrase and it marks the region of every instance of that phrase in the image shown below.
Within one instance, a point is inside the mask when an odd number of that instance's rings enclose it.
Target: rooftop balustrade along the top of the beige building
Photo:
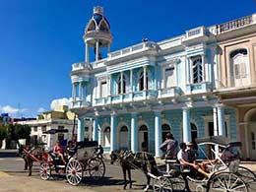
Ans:
[[[253,22],[254,22],[253,16],[247,16],[238,20],[233,20],[233,21],[218,25],[217,32],[218,33],[228,32],[234,29],[242,28],[244,26],[248,26]]]

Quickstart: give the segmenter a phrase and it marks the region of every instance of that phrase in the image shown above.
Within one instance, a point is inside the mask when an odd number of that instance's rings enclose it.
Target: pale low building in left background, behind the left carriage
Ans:
[[[36,120],[20,121],[20,124],[30,125],[33,143],[46,143],[47,148],[52,148],[57,140],[63,138],[68,141],[72,133],[77,134],[77,120],[75,114],[68,110],[68,106],[56,106],[51,111],[37,115]],[[92,140],[92,121],[88,119],[85,124],[85,139]],[[65,130],[65,131],[62,131]],[[55,134],[53,134],[56,132]],[[51,133],[51,134],[50,134]]]

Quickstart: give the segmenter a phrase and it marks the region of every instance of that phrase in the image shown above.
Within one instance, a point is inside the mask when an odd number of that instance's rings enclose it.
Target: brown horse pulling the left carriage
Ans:
[[[27,147],[24,145],[19,145],[18,153],[25,161],[24,169],[28,170],[29,167],[29,176],[32,176],[32,162],[42,160],[41,150],[32,146]]]

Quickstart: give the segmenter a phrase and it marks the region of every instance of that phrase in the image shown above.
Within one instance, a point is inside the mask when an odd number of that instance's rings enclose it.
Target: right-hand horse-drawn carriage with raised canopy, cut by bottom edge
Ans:
[[[252,184],[255,182],[255,174],[239,165],[240,142],[226,143],[220,136],[202,138],[197,140],[198,148],[207,158],[206,149],[210,149],[216,155],[217,160],[202,160],[211,176],[206,178],[197,171],[182,166],[176,160],[166,160],[168,170],[161,175],[149,173],[153,178],[155,192],[190,191],[189,183],[192,182],[199,192],[249,192],[254,191]],[[215,146],[214,150],[211,146]],[[219,155],[219,149],[224,149]],[[201,163],[202,163],[201,162]]]

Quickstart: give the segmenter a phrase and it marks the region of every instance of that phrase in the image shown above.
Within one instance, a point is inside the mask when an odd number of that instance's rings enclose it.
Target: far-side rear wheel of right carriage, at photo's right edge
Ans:
[[[244,166],[239,166],[235,174],[248,184],[251,191],[256,191],[256,175],[253,171]]]

